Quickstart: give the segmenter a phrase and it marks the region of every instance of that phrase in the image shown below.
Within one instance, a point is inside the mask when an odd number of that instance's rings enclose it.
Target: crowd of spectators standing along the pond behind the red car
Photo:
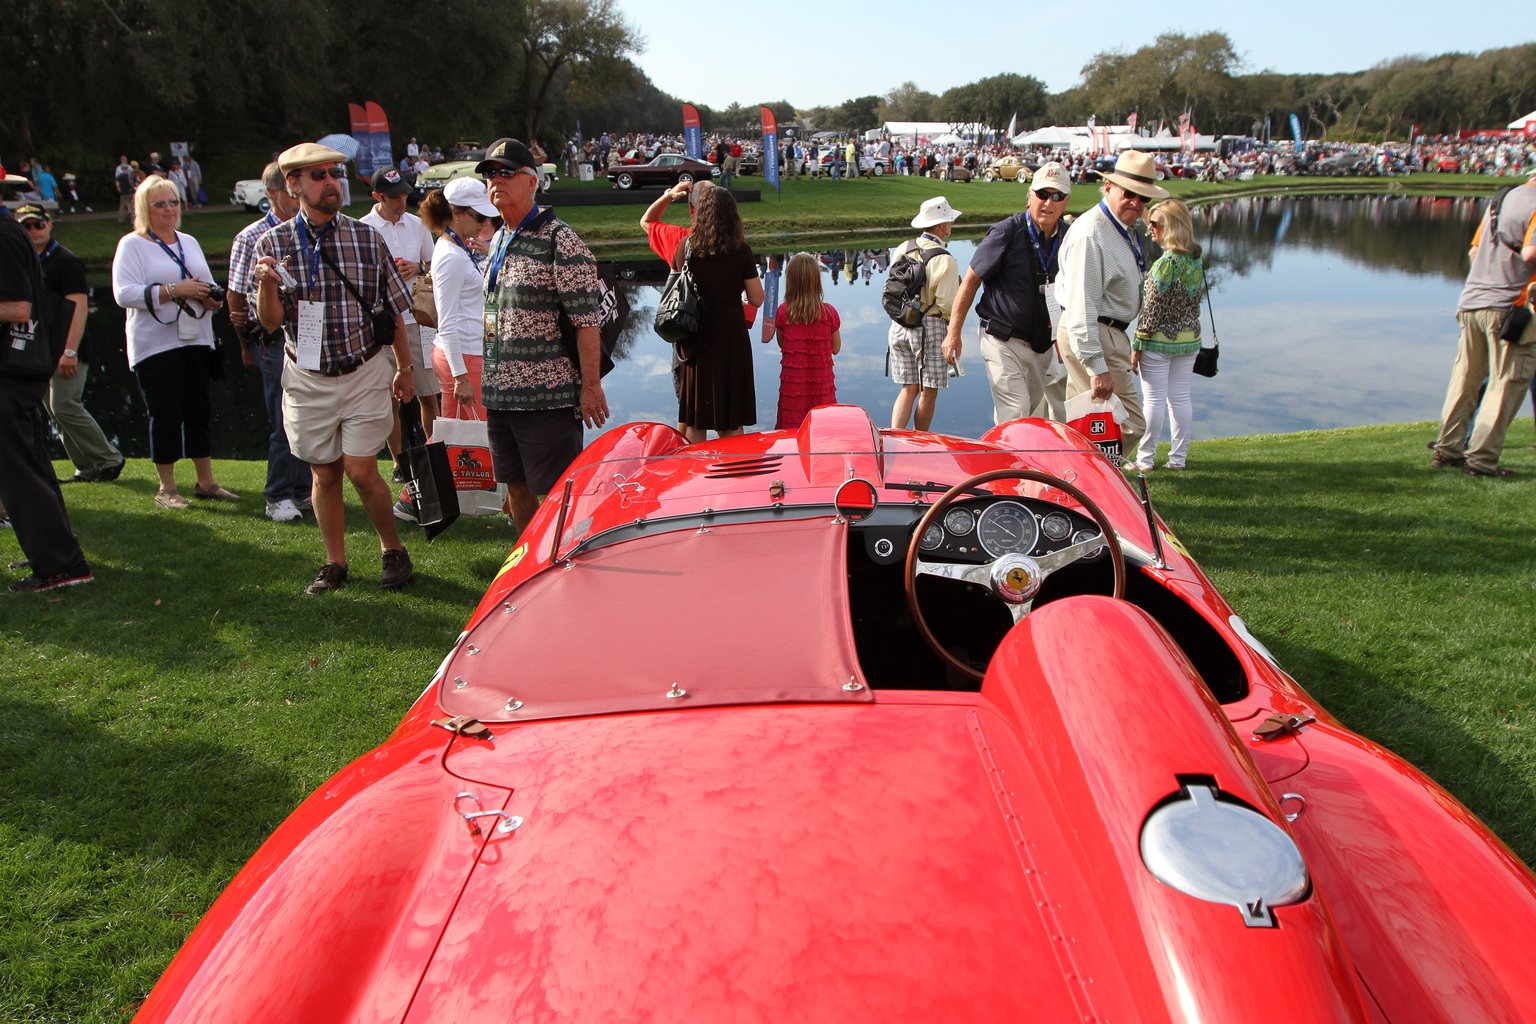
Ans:
[[[613,152],[607,137],[598,146],[594,154],[602,146]],[[788,152],[793,160],[796,147]],[[877,147],[872,158],[894,152]],[[567,155],[579,158],[581,150],[571,144]],[[719,155],[736,157],[727,144]],[[393,500],[378,470],[387,447],[395,481],[409,477],[402,421],[422,438],[438,418],[482,421],[495,479],[507,485],[504,510],[521,527],[579,454],[584,427],[608,419],[599,372],[602,286],[579,235],[536,203],[544,152],[498,140],[476,164],[478,177],[430,192],[419,216],[406,209],[410,175],[381,167],[372,178],[373,207],[353,220],[341,212],[344,157],[316,143],[293,146],[263,173],[270,210],[235,238],[227,290],[197,238],[181,230],[198,184],[195,164],[160,166],[154,157],[158,170],[149,172],[127,157],[120,161],[134,230],[112,261],[112,296],[126,310],[127,362],[149,415],[158,507],[192,505],[177,482],[183,461],[192,464],[192,499],[241,500],[212,470],[212,382],[223,367],[212,318],[226,306],[243,361],[263,379],[266,514],[292,522],[312,511],[319,528],[324,562],[312,594],[349,579],[344,481],[378,534],[381,585],[410,579],[395,520],[413,519],[413,510],[404,497]],[[1505,166],[1536,175],[1530,157],[1528,147],[1511,152]],[[849,143],[843,158],[862,157]],[[845,259],[849,282],[857,267],[866,282],[871,270],[888,272],[886,342],[897,387],[891,427],[928,430],[938,391],[965,373],[963,327],[974,309],[995,422],[1064,419],[1081,396],[1114,402],[1127,467],[1155,468],[1166,418],[1166,467],[1184,468],[1204,267],[1189,210],[1158,184],[1160,170],[1149,154],[1121,152],[1098,170],[1100,201],[1074,221],[1064,215],[1074,186],[1083,187],[1074,169],[1038,166],[1025,209],[989,229],[963,273],[946,247],[963,213],[942,195],[922,204],[911,221],[920,233],[894,253]],[[6,183],[35,186],[37,177],[6,175]],[[1531,197],[1536,177],[1501,192],[1473,243],[1436,467],[1508,473],[1498,467],[1504,433],[1536,368],[1527,299],[1536,267]],[[670,223],[668,210],[684,201],[687,224]],[[757,424],[750,330],[765,290],[736,200],[727,187],[685,181],[645,210],[641,227],[651,249],[693,281],[703,310],[696,336],[673,352],[677,430],[690,442],[711,431],[742,433]],[[1149,258],[1149,241],[1157,258]],[[12,590],[49,590],[86,582],[91,570],[46,459],[45,415],[77,467],[65,484],[115,479],[124,459],[80,404],[89,367],[84,269],[52,239],[49,210],[34,203],[0,215],[0,255],[6,332],[40,333],[45,292],[66,310],[51,373],[18,382],[0,365],[0,516],[9,516],[32,571]],[[836,402],[842,322],[816,256],[773,259],[786,292],[763,316],[762,339],[782,352],[774,425],[794,430],[811,408]]]

